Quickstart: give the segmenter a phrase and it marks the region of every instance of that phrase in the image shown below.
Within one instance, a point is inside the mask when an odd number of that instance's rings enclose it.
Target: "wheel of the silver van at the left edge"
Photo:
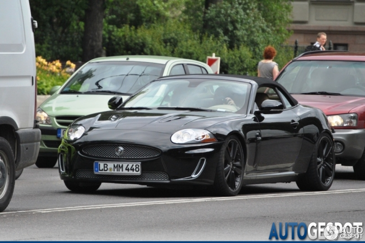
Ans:
[[[0,212],[8,207],[15,186],[15,161],[10,144],[0,137]]]

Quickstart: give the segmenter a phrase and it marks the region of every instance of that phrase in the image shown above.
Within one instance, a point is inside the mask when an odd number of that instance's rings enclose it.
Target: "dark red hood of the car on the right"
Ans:
[[[349,113],[365,103],[364,97],[331,95],[292,95],[300,104],[321,109],[326,115]]]

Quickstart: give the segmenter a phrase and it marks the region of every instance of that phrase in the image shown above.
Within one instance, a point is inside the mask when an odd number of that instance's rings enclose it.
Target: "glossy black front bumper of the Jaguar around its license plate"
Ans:
[[[169,141],[170,135],[166,136]],[[160,140],[161,138],[159,138]],[[118,144],[118,145],[141,145],[150,144],[126,143],[116,141],[98,141],[92,144]],[[122,184],[140,185],[212,185],[216,173],[219,151],[223,142],[206,144],[168,144],[168,146],[156,146],[153,148],[161,151],[161,154],[153,158],[145,159],[120,159],[120,158],[97,158],[86,155],[82,148],[84,145],[68,144],[62,140],[58,154],[59,175],[62,180],[83,182],[110,182]],[[124,145],[123,145],[124,144]],[[207,149],[204,152],[197,149]],[[141,162],[141,175],[100,175],[94,173],[94,162]]]

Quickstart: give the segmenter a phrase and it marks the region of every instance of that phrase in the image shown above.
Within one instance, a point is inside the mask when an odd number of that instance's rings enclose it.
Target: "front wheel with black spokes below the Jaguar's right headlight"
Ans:
[[[235,196],[243,183],[244,155],[241,142],[231,135],[224,142],[220,154],[214,189],[219,196]]]

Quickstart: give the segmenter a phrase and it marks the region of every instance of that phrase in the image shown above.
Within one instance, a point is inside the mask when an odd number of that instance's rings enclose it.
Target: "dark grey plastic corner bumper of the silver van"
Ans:
[[[35,163],[38,157],[41,131],[38,128],[20,129],[15,131],[18,143],[16,170],[23,169]]]

